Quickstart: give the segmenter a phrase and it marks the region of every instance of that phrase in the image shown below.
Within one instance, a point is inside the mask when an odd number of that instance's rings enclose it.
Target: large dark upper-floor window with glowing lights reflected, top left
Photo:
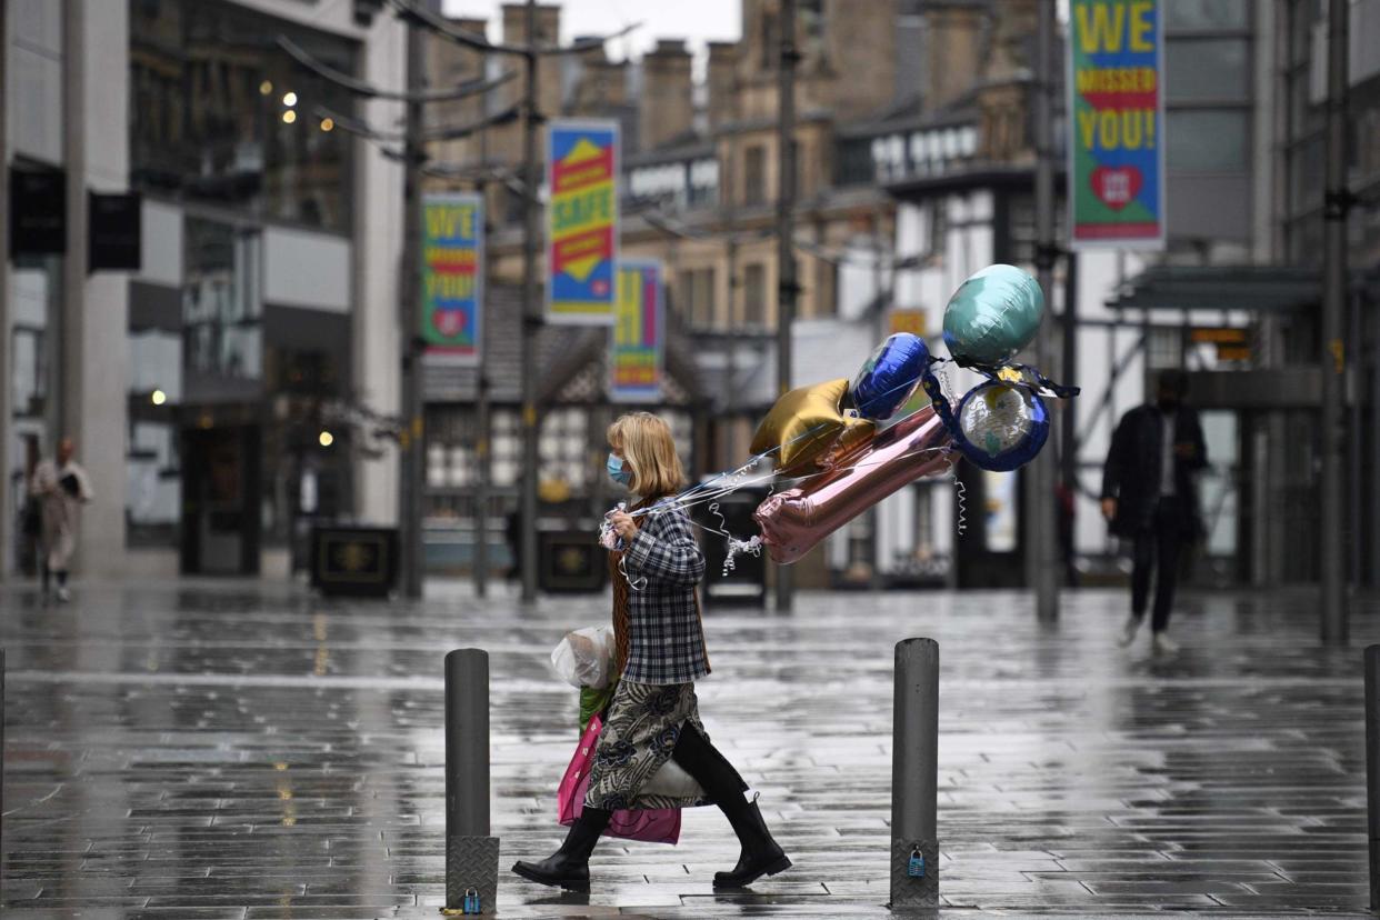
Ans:
[[[265,218],[349,232],[352,138],[316,106],[344,88],[273,36],[355,73],[355,43],[219,0],[130,0],[130,178]]]

